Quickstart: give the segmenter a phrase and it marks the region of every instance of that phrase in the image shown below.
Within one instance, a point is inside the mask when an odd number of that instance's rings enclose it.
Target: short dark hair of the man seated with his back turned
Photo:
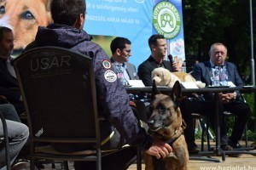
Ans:
[[[85,0],[53,0],[50,5],[52,19],[61,25],[73,26],[85,11]]]

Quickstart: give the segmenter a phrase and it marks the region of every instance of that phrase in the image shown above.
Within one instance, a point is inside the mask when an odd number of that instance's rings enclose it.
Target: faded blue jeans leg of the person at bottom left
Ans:
[[[23,145],[26,144],[26,140],[29,136],[28,127],[20,122],[13,122],[6,120],[9,136],[9,156],[11,164],[15,161],[15,158],[20,153]],[[3,138],[3,123],[0,121],[0,139]],[[5,149],[0,150],[0,168],[6,169],[5,162]]]

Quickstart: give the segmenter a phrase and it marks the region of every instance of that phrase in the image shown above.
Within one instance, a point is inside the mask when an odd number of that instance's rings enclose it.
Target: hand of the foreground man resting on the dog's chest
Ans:
[[[157,159],[166,158],[172,152],[172,147],[169,144],[166,144],[160,139],[154,139],[154,144],[146,150],[146,153],[151,156],[156,156]]]

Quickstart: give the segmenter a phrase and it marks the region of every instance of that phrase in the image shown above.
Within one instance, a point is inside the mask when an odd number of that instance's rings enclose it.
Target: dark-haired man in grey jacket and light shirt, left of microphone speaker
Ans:
[[[137,80],[136,67],[128,62],[131,56],[131,41],[125,37],[115,37],[110,44],[110,48],[113,70],[116,71],[118,77],[120,76],[119,78],[123,79],[123,84],[128,80]]]

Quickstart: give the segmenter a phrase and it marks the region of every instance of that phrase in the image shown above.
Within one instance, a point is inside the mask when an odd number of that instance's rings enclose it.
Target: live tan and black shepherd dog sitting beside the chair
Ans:
[[[186,127],[179,105],[182,99],[180,83],[175,82],[171,96],[160,94],[153,81],[151,111],[148,120],[148,133],[172,146],[172,152],[165,159],[156,159],[146,152],[143,160],[146,170],[185,170],[188,169],[189,151],[183,136]]]

